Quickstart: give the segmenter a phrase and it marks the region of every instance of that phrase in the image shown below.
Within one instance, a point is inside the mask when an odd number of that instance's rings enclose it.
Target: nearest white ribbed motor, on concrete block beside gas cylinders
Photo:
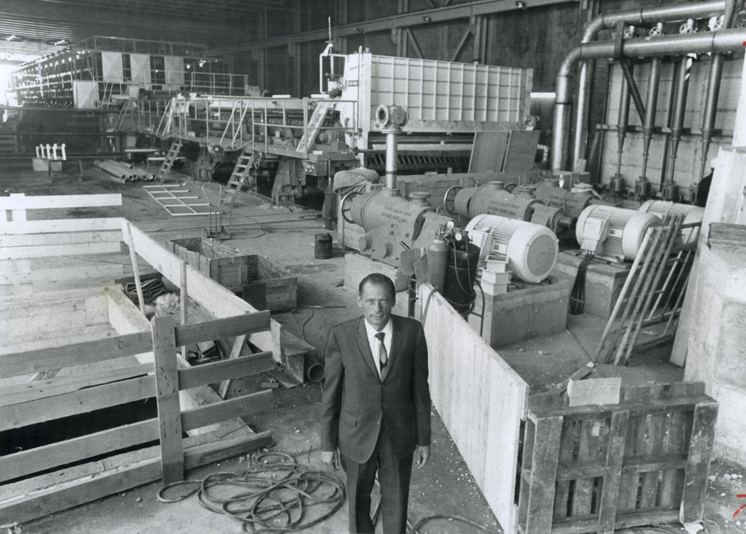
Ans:
[[[507,261],[513,274],[525,282],[545,280],[557,263],[557,236],[540,224],[483,214],[471,219],[466,231],[472,236],[485,233],[482,257]]]

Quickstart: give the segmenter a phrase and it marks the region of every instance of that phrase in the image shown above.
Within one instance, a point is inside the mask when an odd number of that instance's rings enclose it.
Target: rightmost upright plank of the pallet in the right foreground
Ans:
[[[709,461],[712,445],[715,442],[715,421],[718,418],[718,403],[715,401],[698,403],[692,426],[692,439],[689,441],[689,459],[686,462],[684,489],[681,503],[680,521],[693,523],[701,521],[707,492]]]

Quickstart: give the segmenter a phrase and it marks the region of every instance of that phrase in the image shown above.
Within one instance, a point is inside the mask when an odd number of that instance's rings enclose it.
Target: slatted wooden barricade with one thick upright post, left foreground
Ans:
[[[103,362],[148,351],[153,352],[154,363],[0,388],[0,431],[147,398],[156,398],[158,416],[0,456],[0,484],[155,440],[160,442],[160,454],[151,454],[145,460],[120,465],[95,477],[84,477],[74,484],[51,486],[4,500],[0,498],[0,522],[7,522],[6,519],[29,521],[161,477],[164,483],[182,480],[185,467],[214,462],[268,445],[271,441],[269,432],[245,433],[231,439],[202,440],[197,447],[185,450],[182,435],[269,409],[272,392],[257,392],[182,411],[179,391],[265,371],[272,368],[272,353],[260,352],[188,367],[180,365],[177,347],[267,331],[269,321],[268,311],[178,326],[170,316],[156,317],[151,321],[150,332],[2,356],[4,377],[20,377],[51,368]]]

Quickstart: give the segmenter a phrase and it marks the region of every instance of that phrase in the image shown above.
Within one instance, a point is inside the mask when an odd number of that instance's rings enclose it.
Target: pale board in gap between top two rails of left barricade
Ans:
[[[153,371],[153,364],[141,363],[129,367],[106,369],[87,374],[74,374],[69,377],[54,377],[47,380],[34,380],[13,386],[0,388],[0,406],[36,401],[40,398],[54,397],[63,393],[75,392],[90,386],[138,377]]]

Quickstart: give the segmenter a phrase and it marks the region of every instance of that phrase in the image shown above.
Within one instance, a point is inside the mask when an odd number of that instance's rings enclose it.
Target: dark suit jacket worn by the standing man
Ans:
[[[362,317],[329,330],[322,392],[322,450],[336,450],[358,463],[375,448],[381,421],[396,453],[430,445],[427,345],[419,321],[391,316],[388,374],[381,382]]]

